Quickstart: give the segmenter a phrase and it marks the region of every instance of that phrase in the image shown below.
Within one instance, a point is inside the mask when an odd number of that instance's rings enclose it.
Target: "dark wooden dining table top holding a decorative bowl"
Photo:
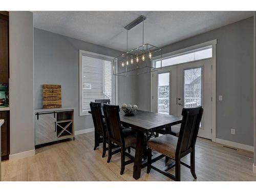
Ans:
[[[163,129],[166,126],[181,123],[182,116],[166,115],[140,110],[132,116],[126,116],[122,109],[120,109],[120,120],[123,125],[131,126],[137,131],[150,133]]]

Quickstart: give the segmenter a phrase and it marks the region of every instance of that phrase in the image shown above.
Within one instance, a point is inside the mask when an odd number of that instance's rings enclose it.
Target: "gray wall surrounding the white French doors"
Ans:
[[[216,137],[253,146],[253,17],[163,47],[163,54],[217,39]],[[138,77],[140,109],[151,109],[150,74]],[[236,135],[230,129],[236,129]]]

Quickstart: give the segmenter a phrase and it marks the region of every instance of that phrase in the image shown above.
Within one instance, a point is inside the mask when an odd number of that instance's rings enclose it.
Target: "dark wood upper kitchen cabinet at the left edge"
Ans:
[[[9,16],[0,12],[0,82],[9,82]]]

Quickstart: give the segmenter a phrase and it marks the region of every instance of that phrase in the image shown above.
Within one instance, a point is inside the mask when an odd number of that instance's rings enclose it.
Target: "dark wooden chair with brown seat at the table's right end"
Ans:
[[[153,168],[157,172],[175,181],[180,181],[180,165],[182,164],[190,168],[190,172],[193,177],[195,179],[197,178],[195,172],[195,144],[202,115],[203,109],[201,106],[198,108],[183,108],[183,118],[181,122],[179,137],[165,134],[147,142],[147,173],[150,173],[151,168]],[[161,153],[162,157],[168,157],[175,160],[175,162],[165,166],[163,169],[153,166],[152,150]],[[180,160],[182,157],[188,154],[190,154],[190,165]],[[167,170],[173,167],[175,167],[175,176],[167,172]]]

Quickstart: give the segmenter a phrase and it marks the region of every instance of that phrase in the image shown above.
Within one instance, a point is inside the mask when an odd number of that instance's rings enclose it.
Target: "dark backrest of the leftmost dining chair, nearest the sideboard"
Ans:
[[[90,108],[92,112],[93,124],[95,127],[95,131],[104,133],[104,121],[101,112],[101,104],[96,102],[90,102]]]

